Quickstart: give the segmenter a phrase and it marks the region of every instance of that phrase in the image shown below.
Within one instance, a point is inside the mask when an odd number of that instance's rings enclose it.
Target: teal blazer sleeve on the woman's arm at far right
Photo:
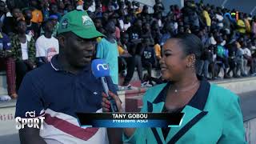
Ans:
[[[227,105],[226,110],[224,111],[222,137],[218,141],[220,144],[246,143],[239,98],[235,94],[232,94],[232,96],[233,97],[230,98],[230,103]]]

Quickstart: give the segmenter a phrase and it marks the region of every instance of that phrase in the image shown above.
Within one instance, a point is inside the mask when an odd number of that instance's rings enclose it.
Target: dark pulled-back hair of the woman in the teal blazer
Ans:
[[[179,44],[182,47],[185,56],[189,54],[194,54],[196,61],[201,58],[202,54],[202,42],[198,36],[194,34],[177,34],[173,38],[178,39]]]

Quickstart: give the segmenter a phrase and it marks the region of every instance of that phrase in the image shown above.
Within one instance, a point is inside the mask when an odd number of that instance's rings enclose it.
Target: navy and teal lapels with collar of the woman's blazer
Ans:
[[[148,112],[161,113],[165,104],[167,90],[169,89],[170,82],[163,87],[162,91],[158,94],[154,100],[147,102]],[[210,83],[206,80],[202,80],[199,86],[198,91],[194,94],[194,97],[190,102],[184,107],[182,113],[184,116],[180,126],[172,126],[170,132],[166,137],[166,140],[163,137],[161,128],[151,128],[154,138],[156,138],[158,143],[175,143],[178,142],[180,138],[192,126],[200,121],[208,112],[204,111],[204,107],[207,102],[207,98],[210,92]]]

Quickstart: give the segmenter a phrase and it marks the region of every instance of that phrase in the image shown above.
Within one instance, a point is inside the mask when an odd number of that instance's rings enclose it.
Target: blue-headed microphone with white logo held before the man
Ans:
[[[91,63],[91,70],[96,78],[101,78],[102,86],[107,99],[110,101],[110,112],[118,112],[118,106],[109,95],[109,86],[107,86],[106,77],[110,76],[110,68],[103,59],[94,59]]]

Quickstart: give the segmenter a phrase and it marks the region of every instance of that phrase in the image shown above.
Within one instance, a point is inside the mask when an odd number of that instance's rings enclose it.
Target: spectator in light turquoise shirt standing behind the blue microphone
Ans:
[[[98,43],[96,58],[105,59],[110,66],[110,77],[118,90],[118,44],[115,40],[116,27],[113,21],[106,24],[106,38]]]

